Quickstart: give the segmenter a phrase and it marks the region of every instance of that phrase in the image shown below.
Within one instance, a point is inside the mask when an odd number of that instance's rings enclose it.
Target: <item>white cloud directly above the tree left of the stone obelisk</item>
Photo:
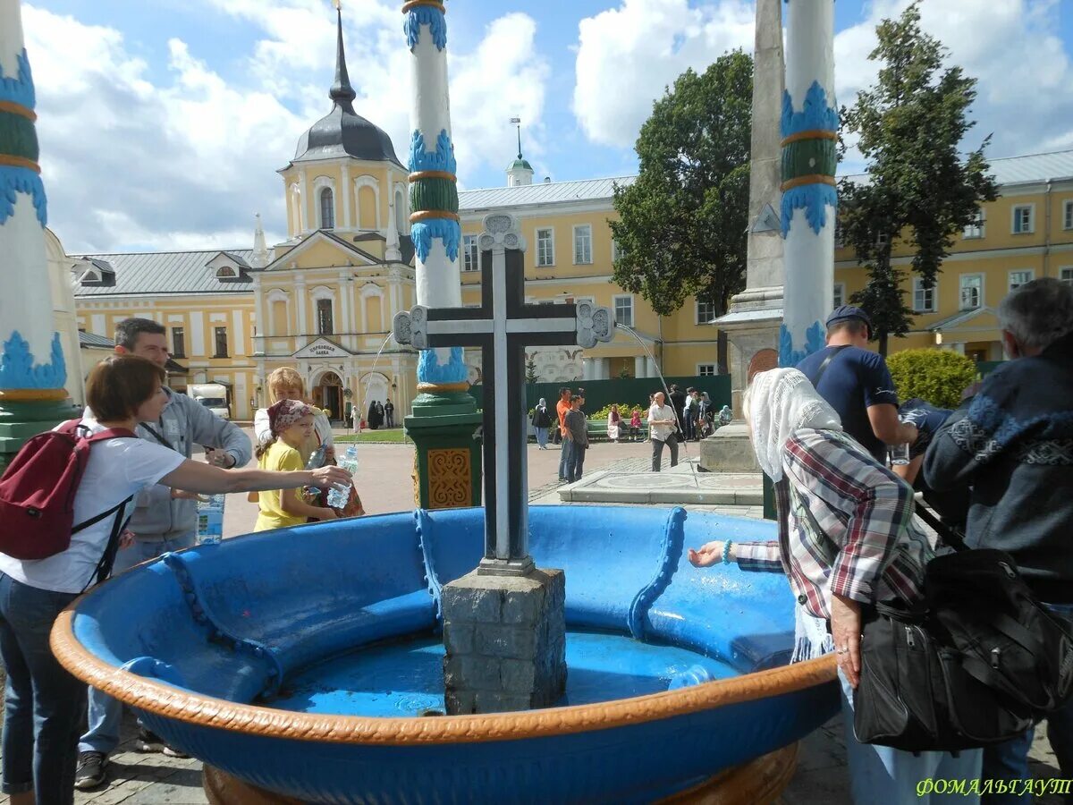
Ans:
[[[632,146],[679,74],[752,43],[751,3],[623,0],[578,26],[574,115],[593,143]]]

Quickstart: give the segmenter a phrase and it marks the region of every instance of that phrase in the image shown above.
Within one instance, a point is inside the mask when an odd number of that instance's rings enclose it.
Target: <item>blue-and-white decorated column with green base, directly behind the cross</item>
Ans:
[[[417,304],[461,307],[458,189],[451,141],[446,9],[440,0],[403,3],[402,26],[413,56],[410,136],[410,236]],[[417,397],[405,420],[416,445],[416,498],[441,509],[481,502],[481,424],[469,395],[461,347],[426,349],[417,362]]]

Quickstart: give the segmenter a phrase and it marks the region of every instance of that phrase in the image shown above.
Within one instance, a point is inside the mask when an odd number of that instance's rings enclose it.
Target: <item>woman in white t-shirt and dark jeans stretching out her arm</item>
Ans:
[[[86,383],[86,401],[97,416],[83,420],[88,433],[133,431],[138,422],[158,421],[167,405],[164,379],[164,370],[144,357],[106,357]],[[86,685],[56,661],[48,635],[60,611],[107,576],[116,550],[109,543],[130,517],[134,495],[156,483],[215,494],[349,482],[338,467],[225,470],[133,434],[94,442],[75,493],[73,522],[113,509],[116,514],[73,533],[70,546],[54,556],[23,560],[0,553],[0,659],[8,671],[0,788],[12,805],[73,801]]]

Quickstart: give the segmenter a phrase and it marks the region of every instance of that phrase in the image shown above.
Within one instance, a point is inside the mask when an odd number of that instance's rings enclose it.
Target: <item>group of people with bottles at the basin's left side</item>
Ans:
[[[167,340],[158,322],[120,322],[115,352],[86,381],[80,433],[108,433],[89,450],[74,496],[78,525],[70,546],[32,560],[0,553],[0,659],[6,672],[2,790],[13,805],[69,803],[75,788],[100,786],[119,744],[122,704],[87,690],[49,648],[53,621],[63,608],[113,573],[193,546],[202,495],[256,493],[266,516],[266,499],[278,504],[307,486],[352,483],[339,467],[306,469],[300,459],[262,460],[258,469],[242,469],[253,453],[249,437],[167,387]],[[293,379],[277,384],[278,401],[259,412],[259,439],[267,444],[304,447],[320,433],[315,410],[297,399],[300,378],[297,391]],[[192,457],[195,445],[204,448],[203,462]],[[336,516],[332,510],[302,514]],[[280,517],[269,527],[292,524]],[[181,757],[141,726],[135,748]]]

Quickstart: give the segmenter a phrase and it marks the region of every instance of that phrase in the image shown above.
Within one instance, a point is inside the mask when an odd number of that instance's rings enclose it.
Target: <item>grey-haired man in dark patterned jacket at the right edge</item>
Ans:
[[[1033,592],[1073,624],[1073,287],[1028,282],[998,319],[1011,360],[970,387],[974,396],[932,439],[924,474],[937,491],[971,484],[968,544],[1008,552]],[[1047,719],[1047,735],[1061,777],[1073,777],[1073,704]],[[1030,779],[1031,744],[1029,730],[985,748],[983,778]]]

